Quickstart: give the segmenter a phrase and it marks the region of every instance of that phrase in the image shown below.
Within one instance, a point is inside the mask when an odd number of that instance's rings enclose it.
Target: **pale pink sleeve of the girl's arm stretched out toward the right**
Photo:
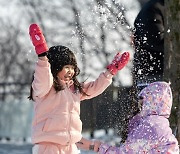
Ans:
[[[84,83],[83,90],[88,95],[81,95],[81,100],[90,99],[100,95],[111,83],[113,75],[101,73],[99,77],[92,82]]]

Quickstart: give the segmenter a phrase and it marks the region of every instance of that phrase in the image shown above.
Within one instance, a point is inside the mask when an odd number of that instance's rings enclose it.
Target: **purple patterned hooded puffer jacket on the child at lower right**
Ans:
[[[179,154],[178,142],[167,118],[172,92],[166,82],[154,82],[144,88],[141,112],[129,122],[126,142],[120,147],[101,144],[99,154]]]

